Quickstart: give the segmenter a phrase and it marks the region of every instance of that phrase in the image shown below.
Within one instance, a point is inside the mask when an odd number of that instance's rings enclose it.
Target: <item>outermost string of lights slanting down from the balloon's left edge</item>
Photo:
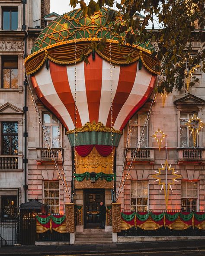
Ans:
[[[28,82],[27,77],[26,77],[26,81]],[[28,82],[28,84],[29,84],[29,82]],[[28,87],[28,88],[29,88],[29,94],[31,95],[30,97],[32,98],[32,102],[33,102],[33,105],[34,105],[34,108],[35,108],[35,112],[37,113],[37,117],[38,117],[39,123],[40,123],[40,125],[41,125],[41,127],[42,127],[42,131],[44,132],[44,135],[45,135],[45,139],[46,139],[46,143],[47,143],[47,145],[48,145],[48,149],[49,149],[50,152],[51,152],[52,160],[54,161],[55,167],[56,167],[57,170],[58,170],[58,177],[59,177],[59,176],[61,177],[61,182],[62,182],[62,184],[63,184],[63,186],[64,186],[64,189],[65,189],[65,191],[67,192],[67,195],[68,195],[69,199],[71,200],[69,188],[66,186],[66,184],[65,184],[65,182],[64,182],[64,179],[63,179],[63,177],[62,177],[62,175],[61,175],[60,169],[58,168],[58,163],[56,162],[56,159],[55,159],[54,154],[53,154],[53,150],[51,149],[51,146],[50,146],[50,144],[49,144],[48,136],[47,136],[47,134],[46,134],[45,127],[44,127],[44,125],[43,125],[43,122],[42,122],[42,119],[41,119],[41,117],[40,117],[40,114],[39,114],[39,112],[38,112],[38,108],[37,108],[37,105],[36,105],[36,103],[35,103],[35,99],[34,99],[34,96],[33,96],[33,93],[32,93],[30,84],[29,84],[29,87]]]

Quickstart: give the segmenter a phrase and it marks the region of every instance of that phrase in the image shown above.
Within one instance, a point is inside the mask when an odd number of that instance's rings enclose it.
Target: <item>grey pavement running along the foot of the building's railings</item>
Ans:
[[[84,245],[50,245],[50,246],[13,246],[1,247],[0,256],[48,256],[48,255],[82,255],[135,252],[163,252],[167,250],[205,250],[205,240],[157,241],[135,243],[84,244]]]

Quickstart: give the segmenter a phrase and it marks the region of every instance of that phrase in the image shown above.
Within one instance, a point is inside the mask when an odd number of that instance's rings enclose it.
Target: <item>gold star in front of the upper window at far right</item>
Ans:
[[[188,122],[186,123],[189,130],[191,130],[191,134],[193,137],[193,145],[196,146],[196,136],[199,135],[199,131],[205,126],[205,123],[198,117],[196,114],[189,118]]]

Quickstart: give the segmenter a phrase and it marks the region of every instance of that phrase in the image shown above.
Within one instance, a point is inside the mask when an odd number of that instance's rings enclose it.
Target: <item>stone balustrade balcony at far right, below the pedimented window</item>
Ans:
[[[179,165],[205,164],[205,148],[179,148],[177,151]]]

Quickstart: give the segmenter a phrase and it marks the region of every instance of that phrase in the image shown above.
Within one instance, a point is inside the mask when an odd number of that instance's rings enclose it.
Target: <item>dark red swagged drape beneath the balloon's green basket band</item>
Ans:
[[[78,155],[85,157],[88,154],[90,154],[91,150],[93,149],[93,146],[95,146],[95,148],[97,149],[97,152],[104,157],[109,156],[109,154],[111,154],[112,152],[112,146],[109,146],[109,145],[82,145],[82,146],[75,146],[75,149]]]

